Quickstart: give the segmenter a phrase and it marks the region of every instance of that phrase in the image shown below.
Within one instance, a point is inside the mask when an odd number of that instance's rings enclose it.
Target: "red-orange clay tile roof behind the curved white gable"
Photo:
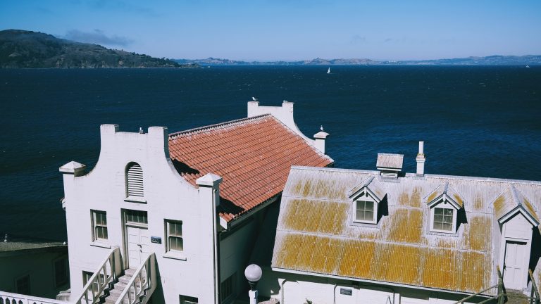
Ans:
[[[207,173],[223,177],[220,216],[228,222],[280,194],[292,165],[333,163],[268,114],[170,134],[169,154],[193,185]]]

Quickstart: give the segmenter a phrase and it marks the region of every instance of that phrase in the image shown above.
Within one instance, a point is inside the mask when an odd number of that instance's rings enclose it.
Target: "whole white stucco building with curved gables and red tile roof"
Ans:
[[[259,211],[279,198],[291,165],[332,165],[294,125],[292,106],[249,103],[248,118],[173,134],[102,125],[97,165],[60,168],[70,300],[99,284],[97,272],[111,283],[148,275],[153,303],[233,300]]]

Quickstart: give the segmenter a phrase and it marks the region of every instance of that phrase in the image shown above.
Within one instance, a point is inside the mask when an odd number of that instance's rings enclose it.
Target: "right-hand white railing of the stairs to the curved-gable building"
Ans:
[[[145,296],[145,292],[148,296],[154,292],[156,283],[156,255],[151,253],[142,265],[135,270],[132,279],[130,279],[124,291],[120,293],[120,297],[118,297],[115,304],[139,303],[140,298]]]

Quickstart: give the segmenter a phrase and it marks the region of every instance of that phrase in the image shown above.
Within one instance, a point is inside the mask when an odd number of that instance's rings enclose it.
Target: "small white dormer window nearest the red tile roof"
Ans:
[[[368,177],[349,191],[352,199],[352,222],[378,224],[380,203],[387,194],[375,177]]]

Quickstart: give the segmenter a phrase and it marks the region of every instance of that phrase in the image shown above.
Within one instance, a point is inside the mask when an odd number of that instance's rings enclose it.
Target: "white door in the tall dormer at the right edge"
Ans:
[[[506,241],[504,262],[504,286],[507,289],[522,289],[524,258],[527,258],[526,243]]]

